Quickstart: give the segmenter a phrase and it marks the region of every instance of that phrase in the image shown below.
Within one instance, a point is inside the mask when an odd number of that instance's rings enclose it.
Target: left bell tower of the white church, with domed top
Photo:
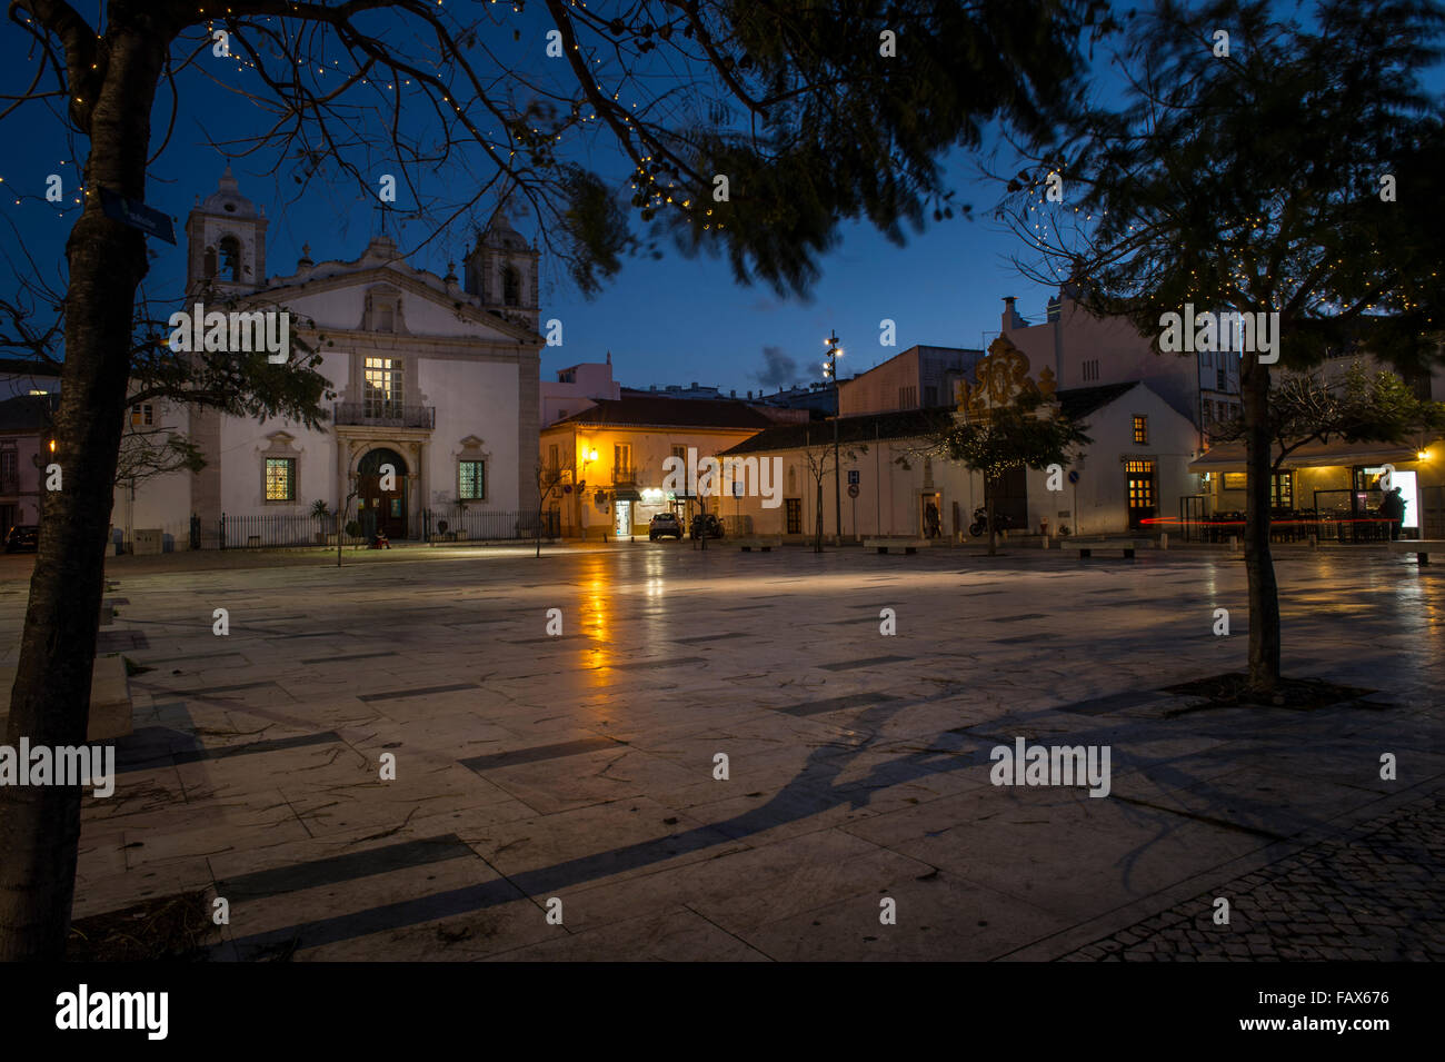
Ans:
[[[208,285],[221,295],[246,295],[266,286],[266,217],[241,195],[230,166],[205,202],[198,197],[185,237],[189,295]]]

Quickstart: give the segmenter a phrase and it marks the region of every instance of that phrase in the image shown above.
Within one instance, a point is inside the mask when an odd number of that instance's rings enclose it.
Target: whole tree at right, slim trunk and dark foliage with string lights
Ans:
[[[1438,361],[1445,327],[1445,108],[1425,82],[1445,9],[1315,0],[1279,10],[1156,0],[1123,35],[1123,103],[1082,101],[1061,140],[1029,155],[1000,215],[1023,237],[1033,276],[1071,282],[1087,309],[1124,316],[1144,337],[1192,306],[1277,322],[1269,357],[1285,368],[1363,348],[1419,371]],[[1273,361],[1261,354],[1259,344],[1243,353],[1240,438],[1250,685],[1270,692],[1280,618]]]

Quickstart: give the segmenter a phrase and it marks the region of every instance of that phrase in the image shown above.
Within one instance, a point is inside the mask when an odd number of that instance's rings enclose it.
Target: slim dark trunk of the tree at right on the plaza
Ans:
[[[1279,681],[1279,587],[1270,556],[1269,366],[1244,355],[1244,442],[1248,468],[1244,509],[1244,571],[1250,585],[1250,686],[1270,692]]]

